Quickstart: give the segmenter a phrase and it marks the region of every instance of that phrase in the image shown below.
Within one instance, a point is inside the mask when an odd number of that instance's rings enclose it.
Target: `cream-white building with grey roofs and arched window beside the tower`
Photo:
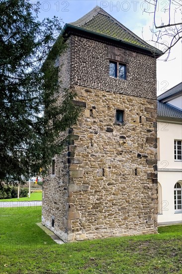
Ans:
[[[158,224],[182,223],[182,83],[158,97]]]

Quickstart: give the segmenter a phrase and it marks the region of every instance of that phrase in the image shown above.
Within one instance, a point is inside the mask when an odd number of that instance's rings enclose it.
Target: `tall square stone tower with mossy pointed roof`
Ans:
[[[98,6],[62,35],[60,77],[83,113],[45,180],[42,223],[65,242],[157,233],[162,52]]]

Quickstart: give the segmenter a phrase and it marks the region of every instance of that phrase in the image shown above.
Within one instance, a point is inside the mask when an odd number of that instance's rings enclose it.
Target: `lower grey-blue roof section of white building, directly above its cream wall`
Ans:
[[[157,102],[157,115],[160,117],[182,119],[182,111],[161,102]]]

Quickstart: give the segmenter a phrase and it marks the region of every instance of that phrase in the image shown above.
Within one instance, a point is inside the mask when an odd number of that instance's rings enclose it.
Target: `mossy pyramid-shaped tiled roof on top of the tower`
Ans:
[[[96,32],[108,36],[108,38],[115,38],[159,55],[162,54],[162,51],[143,41],[99,6],[94,7],[82,18],[68,25]]]

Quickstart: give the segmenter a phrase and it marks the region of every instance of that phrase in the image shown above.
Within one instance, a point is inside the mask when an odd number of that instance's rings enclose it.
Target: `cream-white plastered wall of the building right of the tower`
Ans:
[[[158,138],[160,138],[158,182],[162,189],[162,195],[159,195],[162,214],[158,215],[158,223],[182,222],[182,213],[175,213],[174,205],[174,186],[177,181],[182,180],[182,161],[175,160],[174,140],[182,140],[182,125],[158,122]]]

